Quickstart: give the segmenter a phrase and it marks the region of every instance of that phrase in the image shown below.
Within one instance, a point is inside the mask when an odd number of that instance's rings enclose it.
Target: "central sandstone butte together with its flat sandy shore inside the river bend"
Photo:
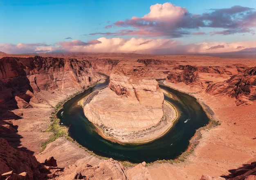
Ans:
[[[164,94],[149,72],[139,63],[116,66],[108,87],[84,106],[85,116],[101,129],[103,137],[120,143],[145,143],[171,128],[177,110],[164,102]]]

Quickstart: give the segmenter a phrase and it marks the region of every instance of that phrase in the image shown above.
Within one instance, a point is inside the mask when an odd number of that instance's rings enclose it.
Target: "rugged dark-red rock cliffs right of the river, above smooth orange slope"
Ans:
[[[256,68],[236,66],[177,66],[166,77],[171,83],[183,82],[200,86],[212,95],[229,95],[237,99],[237,105],[256,99]]]

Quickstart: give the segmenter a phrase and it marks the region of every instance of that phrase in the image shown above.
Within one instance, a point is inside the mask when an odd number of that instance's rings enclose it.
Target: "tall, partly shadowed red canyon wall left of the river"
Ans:
[[[61,91],[71,95],[100,78],[88,60],[3,57],[0,59],[0,108],[31,108],[31,99],[35,103],[45,103],[41,96],[35,97],[35,93]]]

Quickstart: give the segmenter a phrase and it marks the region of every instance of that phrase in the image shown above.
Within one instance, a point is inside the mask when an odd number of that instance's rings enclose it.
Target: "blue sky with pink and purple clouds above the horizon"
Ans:
[[[0,51],[256,53],[256,0],[0,0]]]

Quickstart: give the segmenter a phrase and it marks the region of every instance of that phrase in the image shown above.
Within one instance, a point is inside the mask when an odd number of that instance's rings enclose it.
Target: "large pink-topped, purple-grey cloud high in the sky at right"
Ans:
[[[192,14],[185,7],[170,2],[150,6],[150,12],[143,17],[119,20],[105,28],[118,26],[115,33],[92,33],[90,35],[145,35],[150,37],[182,37],[200,28],[220,28],[211,35],[230,35],[235,33],[254,33],[256,11],[253,8],[233,6],[225,9],[209,9],[206,13]],[[202,35],[203,33],[192,33]]]

